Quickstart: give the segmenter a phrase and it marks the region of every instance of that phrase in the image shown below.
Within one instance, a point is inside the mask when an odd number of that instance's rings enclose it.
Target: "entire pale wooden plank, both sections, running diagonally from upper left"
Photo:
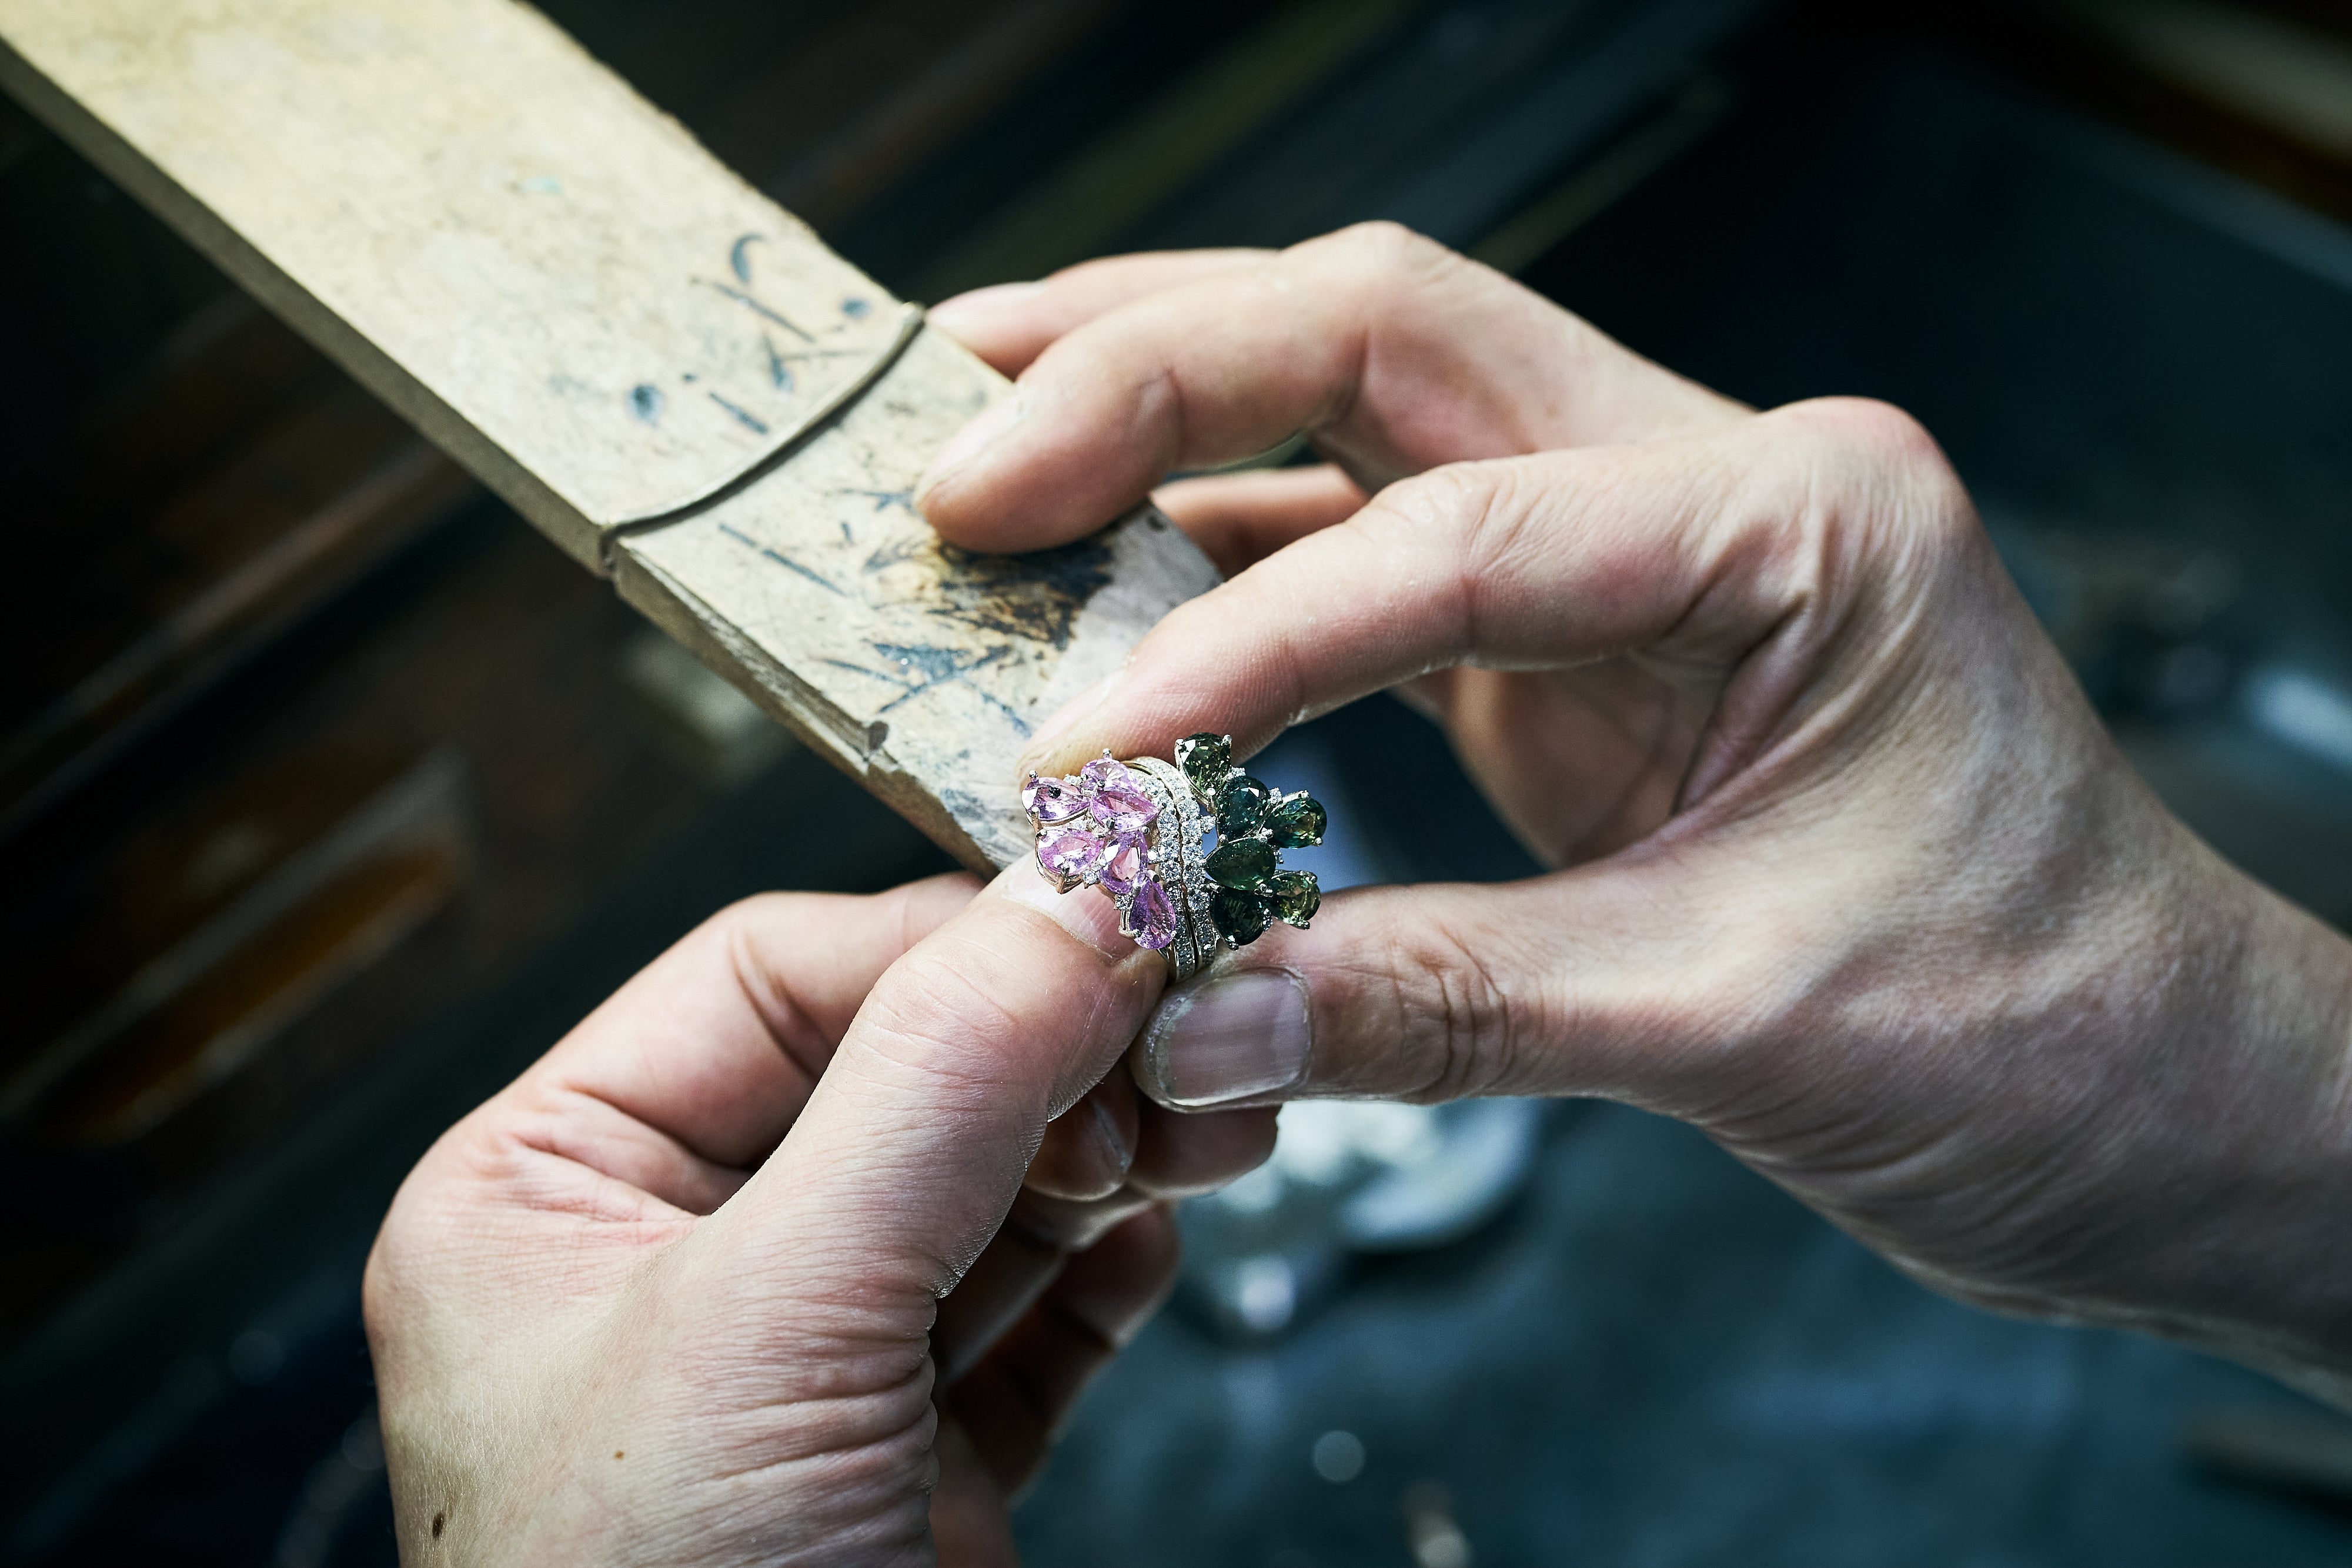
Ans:
[[[1214,583],[913,510],[1004,381],[510,0],[0,0],[0,85],[974,867],[1061,696]]]

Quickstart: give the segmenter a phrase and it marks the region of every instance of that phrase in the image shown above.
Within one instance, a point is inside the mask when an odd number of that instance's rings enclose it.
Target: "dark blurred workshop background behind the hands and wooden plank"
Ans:
[[[2340,2],[548,12],[913,299],[1385,216],[1752,402],[1910,407],[2150,780],[2352,919]],[[943,860],[5,99],[0,364],[0,1561],[390,1563],[407,1166],[724,900]],[[1529,870],[1383,698],[1265,771],[1334,884]],[[1301,1199],[1446,1138],[1451,1222]],[[1672,1124],[1284,1150],[1033,1563],[2352,1561],[2352,1422],[1947,1305]]]

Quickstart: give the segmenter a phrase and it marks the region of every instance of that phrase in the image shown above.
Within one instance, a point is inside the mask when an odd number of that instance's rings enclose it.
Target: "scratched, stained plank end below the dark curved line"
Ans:
[[[1152,510],[1023,557],[946,548],[913,487],[1004,378],[936,331],[790,463],[619,541],[621,595],[967,865],[1028,851],[1014,759],[1216,571]]]

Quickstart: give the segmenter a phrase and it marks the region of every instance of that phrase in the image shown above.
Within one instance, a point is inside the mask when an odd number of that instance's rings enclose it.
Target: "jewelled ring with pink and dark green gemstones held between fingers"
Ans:
[[[1063,778],[1030,773],[1021,804],[1037,870],[1063,893],[1110,893],[1120,931],[1164,952],[1178,980],[1277,919],[1305,931],[1322,903],[1315,872],[1287,872],[1277,856],[1322,844],[1322,804],[1232,766],[1232,736],[1185,736],[1176,762],[1115,762],[1105,750]],[[1211,830],[1216,849],[1204,849]]]

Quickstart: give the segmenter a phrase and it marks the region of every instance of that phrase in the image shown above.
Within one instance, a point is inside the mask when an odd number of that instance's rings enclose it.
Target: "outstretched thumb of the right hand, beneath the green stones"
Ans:
[[[1771,879],[1726,860],[1759,849],[1642,844],[1505,886],[1334,893],[1312,933],[1277,926],[1174,987],[1129,1070],[1174,1110],[1599,1095],[1689,1114],[1828,938],[1806,931],[1825,900],[1802,865],[1755,907]]]

